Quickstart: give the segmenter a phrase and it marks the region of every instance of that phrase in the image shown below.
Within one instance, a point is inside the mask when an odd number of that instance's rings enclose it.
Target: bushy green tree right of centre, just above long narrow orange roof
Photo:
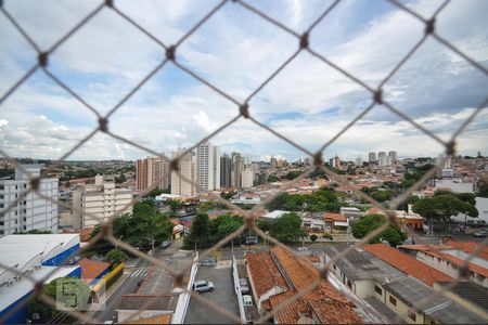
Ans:
[[[386,222],[383,214],[370,214],[361,218],[352,224],[352,235],[356,238],[363,238],[372,231],[378,229]],[[383,233],[373,237],[369,243],[375,244],[387,240],[390,246],[396,247],[403,243],[407,236],[396,225],[389,225]]]

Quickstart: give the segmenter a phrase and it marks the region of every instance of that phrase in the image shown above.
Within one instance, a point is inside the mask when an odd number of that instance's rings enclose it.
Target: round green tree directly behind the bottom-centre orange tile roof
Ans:
[[[294,212],[277,218],[272,222],[269,233],[284,244],[296,244],[307,235],[301,230],[301,219]]]

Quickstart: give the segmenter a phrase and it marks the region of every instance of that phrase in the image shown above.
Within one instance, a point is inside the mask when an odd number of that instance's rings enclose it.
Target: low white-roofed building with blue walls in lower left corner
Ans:
[[[0,317],[2,324],[26,324],[33,281],[80,277],[78,234],[9,235],[0,238]]]

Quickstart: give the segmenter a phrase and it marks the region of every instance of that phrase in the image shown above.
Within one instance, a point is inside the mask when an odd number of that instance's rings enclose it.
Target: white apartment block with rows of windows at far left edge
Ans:
[[[41,166],[23,165],[31,178],[40,177]],[[30,187],[28,174],[15,169],[15,179],[0,180],[0,237],[14,232],[43,230],[57,232],[57,179],[41,179],[39,193],[54,202],[38,196],[34,191],[5,211]]]

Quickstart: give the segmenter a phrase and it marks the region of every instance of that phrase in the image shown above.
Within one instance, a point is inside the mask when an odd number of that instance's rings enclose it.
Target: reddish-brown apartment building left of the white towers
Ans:
[[[146,157],[136,161],[136,188],[168,188],[168,161],[160,157]]]

